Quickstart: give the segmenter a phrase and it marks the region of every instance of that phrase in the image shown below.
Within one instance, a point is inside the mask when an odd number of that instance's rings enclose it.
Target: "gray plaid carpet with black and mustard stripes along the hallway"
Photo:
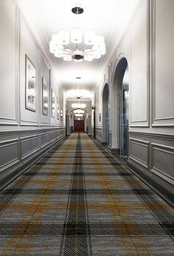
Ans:
[[[0,198],[0,255],[174,255],[173,208],[85,133]]]

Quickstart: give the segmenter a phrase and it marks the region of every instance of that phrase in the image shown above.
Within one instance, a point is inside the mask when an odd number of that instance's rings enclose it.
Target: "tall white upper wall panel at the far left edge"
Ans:
[[[16,119],[15,108],[15,6],[0,1],[0,123]]]

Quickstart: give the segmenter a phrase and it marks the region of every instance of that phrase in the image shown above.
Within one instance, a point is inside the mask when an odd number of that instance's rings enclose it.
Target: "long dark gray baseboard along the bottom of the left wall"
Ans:
[[[15,178],[18,178],[23,172],[25,172],[32,164],[35,164],[40,158],[42,158],[47,152],[54,148],[56,144],[60,141],[63,141],[66,137],[60,138],[58,141],[54,141],[51,144],[45,146],[39,152],[33,154],[29,158],[27,158],[23,163],[18,166],[15,166],[12,169],[6,169],[4,172],[0,173],[0,189],[3,189],[10,182],[12,182]]]

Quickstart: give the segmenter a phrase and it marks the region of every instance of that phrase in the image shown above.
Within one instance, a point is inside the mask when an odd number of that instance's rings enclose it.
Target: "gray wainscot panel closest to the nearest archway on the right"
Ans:
[[[130,138],[129,158],[135,161],[137,164],[144,166],[146,169],[149,169],[149,150],[149,141],[142,141],[135,138]]]

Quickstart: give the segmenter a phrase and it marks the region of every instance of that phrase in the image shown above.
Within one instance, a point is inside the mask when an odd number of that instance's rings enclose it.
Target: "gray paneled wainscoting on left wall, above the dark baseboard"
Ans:
[[[42,141],[45,136],[46,140]],[[0,132],[0,172],[15,166],[19,161],[29,158],[35,152],[65,137],[65,127],[60,129],[30,129]],[[6,139],[10,138],[10,139]],[[43,143],[42,143],[43,142]],[[5,148],[9,146],[7,152]],[[1,151],[1,149],[3,149]],[[9,155],[7,157],[7,155]],[[10,159],[13,158],[13,159]]]

